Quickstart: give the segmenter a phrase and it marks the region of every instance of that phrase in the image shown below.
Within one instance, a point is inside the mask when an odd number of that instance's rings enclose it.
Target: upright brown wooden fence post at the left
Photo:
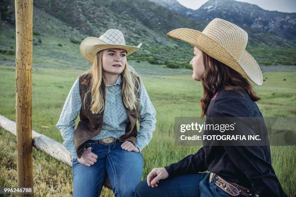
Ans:
[[[32,60],[33,0],[15,0],[15,83],[18,187],[33,188]],[[34,196],[18,194],[18,196]]]

